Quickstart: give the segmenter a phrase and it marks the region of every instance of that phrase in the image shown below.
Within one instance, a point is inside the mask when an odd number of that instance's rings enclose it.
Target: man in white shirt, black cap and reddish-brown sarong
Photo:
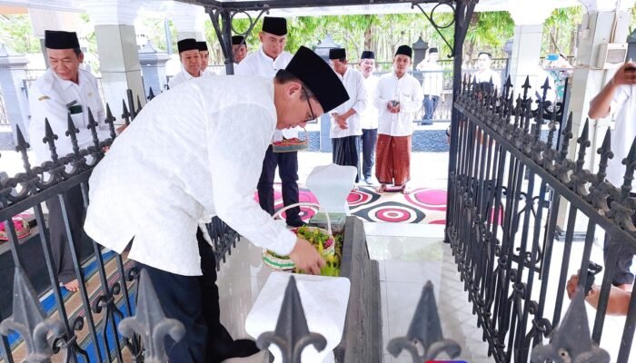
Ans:
[[[380,182],[378,192],[393,184],[410,192],[411,136],[415,113],[422,107],[420,82],[408,74],[412,60],[412,48],[400,45],[393,57],[393,72],[384,74],[378,81],[375,105],[378,119],[378,145],[375,157],[375,176]]]

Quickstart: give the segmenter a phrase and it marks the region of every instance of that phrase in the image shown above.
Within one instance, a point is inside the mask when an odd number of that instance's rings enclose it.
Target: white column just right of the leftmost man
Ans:
[[[139,64],[134,19],[139,0],[91,0],[86,4],[88,15],[95,26],[104,99],[121,118],[122,100],[126,90],[133,90],[144,104],[145,93]]]

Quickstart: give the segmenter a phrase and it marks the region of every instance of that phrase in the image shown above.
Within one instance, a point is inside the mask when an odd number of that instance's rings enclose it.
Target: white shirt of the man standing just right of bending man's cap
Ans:
[[[363,134],[363,125],[361,123],[361,114],[367,107],[368,99],[366,87],[364,87],[364,76],[355,69],[347,68],[344,72],[344,75],[337,74],[338,78],[343,82],[344,89],[347,90],[349,94],[349,100],[340,106],[336,107],[332,111],[332,113],[343,114],[347,113],[349,110],[353,108],[355,113],[353,113],[349,118],[347,118],[347,128],[342,129],[338,123],[335,122],[335,119],[331,117],[332,127],[329,131],[329,136],[332,139],[337,139],[341,137],[347,136],[360,136]]]

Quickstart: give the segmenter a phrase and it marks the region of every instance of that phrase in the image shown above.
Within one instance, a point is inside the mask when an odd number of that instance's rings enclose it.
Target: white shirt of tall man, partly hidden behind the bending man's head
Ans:
[[[236,75],[251,75],[259,77],[267,77],[272,79],[276,73],[287,67],[292,60],[293,55],[289,52],[283,52],[272,59],[263,52],[263,45],[258,51],[248,54],[240,64],[234,67]],[[280,142],[283,138],[291,139],[298,137],[298,129],[276,130],[273,132],[273,142]]]

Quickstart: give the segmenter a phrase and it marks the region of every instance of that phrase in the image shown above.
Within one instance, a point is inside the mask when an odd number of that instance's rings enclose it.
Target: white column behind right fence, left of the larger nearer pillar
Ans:
[[[509,1],[508,11],[514,21],[510,74],[515,93],[521,93],[527,76],[531,77],[531,84],[538,83],[535,78],[541,57],[543,23],[552,14],[554,5],[552,0]]]

